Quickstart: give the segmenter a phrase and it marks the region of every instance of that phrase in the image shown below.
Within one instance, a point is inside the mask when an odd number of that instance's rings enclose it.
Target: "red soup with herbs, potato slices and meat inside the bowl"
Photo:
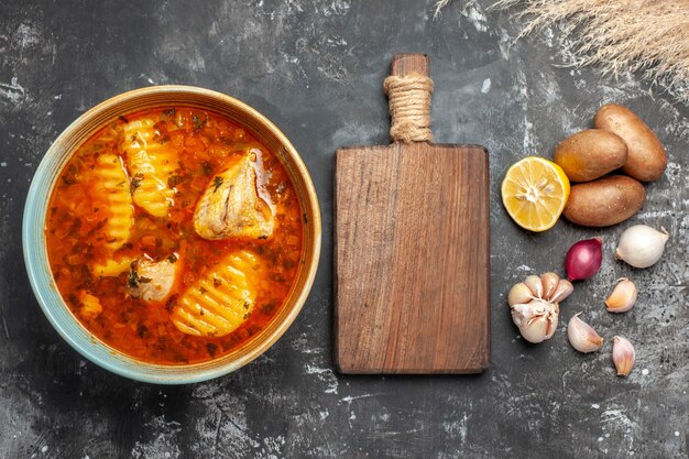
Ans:
[[[300,216],[255,138],[171,107],[121,117],[74,153],[45,234],[57,288],[86,329],[138,360],[186,364],[238,349],[280,312]]]

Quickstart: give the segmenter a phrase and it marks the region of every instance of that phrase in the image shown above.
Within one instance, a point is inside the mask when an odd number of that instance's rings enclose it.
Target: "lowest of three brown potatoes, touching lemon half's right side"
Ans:
[[[645,199],[644,185],[625,175],[613,175],[573,185],[562,215],[583,227],[609,227],[636,214]]]

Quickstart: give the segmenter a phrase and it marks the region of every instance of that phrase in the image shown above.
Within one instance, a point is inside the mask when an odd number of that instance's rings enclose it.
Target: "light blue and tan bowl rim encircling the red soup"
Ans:
[[[78,323],[69,308],[64,304],[50,271],[44,233],[50,195],[57,179],[57,173],[62,170],[64,163],[72,156],[76,146],[86,141],[94,131],[91,130],[88,134],[81,135],[78,142],[73,142],[74,147],[67,153],[64,152],[65,147],[61,145],[65,143],[65,139],[69,139],[79,130],[79,125],[85,120],[102,114],[106,111],[111,111],[124,101],[131,102],[133,99],[142,96],[145,97],[152,92],[160,94],[161,91],[169,94],[172,99],[169,102],[160,103],[162,107],[165,105],[184,105],[184,102],[175,101],[174,98],[193,95],[195,97],[206,97],[208,100],[214,99],[214,102],[220,100],[223,106],[228,107],[228,110],[250,113],[256,123],[266,127],[271,131],[271,135],[274,135],[276,142],[285,150],[284,153],[291,157],[307,190],[304,198],[308,199],[308,205],[313,208],[311,217],[315,218],[309,219],[314,221],[308,222],[314,228],[313,267],[304,280],[303,288],[296,293],[295,305],[281,324],[272,327],[270,331],[265,330],[262,332],[262,339],[255,338],[252,340],[252,349],[239,358],[233,357],[234,352],[232,352],[209,362],[186,365],[161,365],[136,361],[103,343]],[[217,111],[214,108],[208,109]],[[320,255],[320,210],[314,184],[297,151],[282,131],[255,109],[230,96],[205,88],[181,85],[153,86],[121,94],[97,105],[69,124],[53,142],[36,168],[26,196],[22,221],[22,245],[29,281],[39,305],[55,330],[75,350],[97,365],[128,379],[156,384],[186,384],[219,378],[238,370],[267,350],[294,321],[308,296]],[[259,349],[260,347],[262,349]]]

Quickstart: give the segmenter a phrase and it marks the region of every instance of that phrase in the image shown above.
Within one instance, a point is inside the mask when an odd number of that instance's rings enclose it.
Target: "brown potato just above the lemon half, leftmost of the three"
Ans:
[[[614,132],[587,129],[561,141],[553,157],[572,182],[591,182],[622,167],[626,143]]]

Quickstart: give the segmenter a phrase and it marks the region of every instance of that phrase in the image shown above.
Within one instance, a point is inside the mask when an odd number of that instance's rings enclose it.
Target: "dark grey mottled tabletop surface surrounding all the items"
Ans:
[[[557,28],[515,41],[510,13],[466,3],[433,20],[424,0],[3,1],[0,458],[687,457],[689,110],[636,75],[557,66],[569,52]],[[389,141],[381,84],[396,52],[431,56],[436,141],[490,151],[492,354],[482,375],[333,371],[333,152]],[[321,265],[292,328],[240,371],[184,386],[128,381],[76,353],[39,308],[21,251],[25,194],[51,142],[98,102],[157,84],[216,89],[266,114],[304,157],[324,220]],[[605,230],[565,220],[520,230],[500,201],[505,170],[527,154],[550,157],[606,101],[634,109],[667,146],[667,173],[647,185],[642,212]],[[632,222],[670,232],[652,269],[612,260]],[[550,341],[525,345],[508,287],[561,273],[566,249],[593,236],[604,240],[600,273],[577,285]],[[613,317],[602,299],[623,275],[641,295]],[[600,353],[567,343],[575,312],[605,337]],[[636,345],[628,379],[610,361],[615,334]]]

